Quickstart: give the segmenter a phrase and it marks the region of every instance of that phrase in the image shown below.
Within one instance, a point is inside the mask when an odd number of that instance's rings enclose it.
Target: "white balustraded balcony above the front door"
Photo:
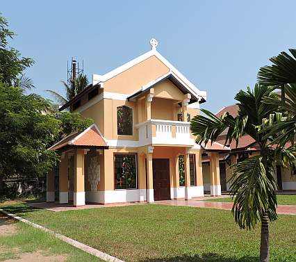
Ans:
[[[195,145],[190,136],[190,122],[147,120],[136,127],[139,130],[139,146],[144,145]]]

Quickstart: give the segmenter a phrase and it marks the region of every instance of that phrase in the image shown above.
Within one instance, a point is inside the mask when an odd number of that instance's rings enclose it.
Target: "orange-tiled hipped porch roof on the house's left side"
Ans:
[[[97,125],[92,124],[84,131],[72,133],[49,147],[50,150],[59,151],[65,151],[69,148],[108,149],[109,147]]]

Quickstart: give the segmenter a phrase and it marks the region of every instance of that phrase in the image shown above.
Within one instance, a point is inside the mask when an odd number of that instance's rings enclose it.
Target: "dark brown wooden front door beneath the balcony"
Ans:
[[[170,199],[170,159],[154,158],[152,165],[154,200]]]

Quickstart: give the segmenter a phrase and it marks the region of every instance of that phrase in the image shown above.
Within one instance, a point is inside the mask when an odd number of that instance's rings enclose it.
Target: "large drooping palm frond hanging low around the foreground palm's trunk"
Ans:
[[[231,196],[236,197],[232,213],[241,229],[252,229],[263,213],[277,219],[277,195],[271,170],[266,170],[262,156],[252,156],[234,166]]]

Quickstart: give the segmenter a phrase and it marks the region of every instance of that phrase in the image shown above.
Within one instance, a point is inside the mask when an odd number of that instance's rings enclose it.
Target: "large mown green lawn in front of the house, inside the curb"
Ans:
[[[255,262],[260,227],[238,229],[230,211],[145,204],[50,212],[24,204],[11,212],[125,261]],[[296,261],[296,217],[270,226],[270,261]]]

